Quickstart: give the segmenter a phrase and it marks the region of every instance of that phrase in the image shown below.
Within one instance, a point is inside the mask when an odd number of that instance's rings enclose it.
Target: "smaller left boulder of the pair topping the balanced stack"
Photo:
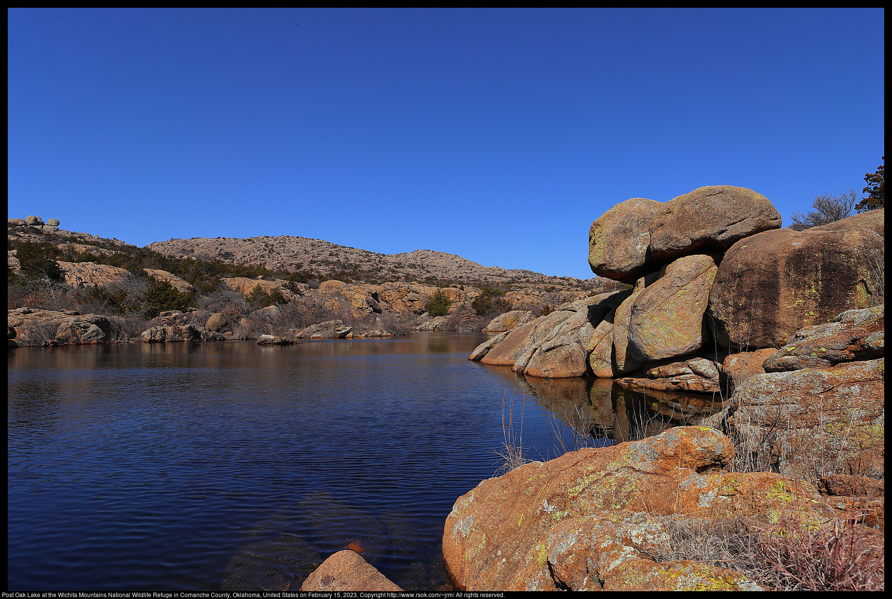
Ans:
[[[655,270],[648,264],[650,222],[664,204],[632,198],[616,204],[591,223],[591,272],[623,283],[634,283]]]

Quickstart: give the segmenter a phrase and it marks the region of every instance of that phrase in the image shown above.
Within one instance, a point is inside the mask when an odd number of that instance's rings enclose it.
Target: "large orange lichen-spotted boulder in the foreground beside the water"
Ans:
[[[446,518],[444,565],[457,590],[757,590],[731,570],[648,556],[665,538],[660,517],[669,514],[833,515],[804,481],[723,470],[732,455],[722,433],[680,427],[483,480]]]

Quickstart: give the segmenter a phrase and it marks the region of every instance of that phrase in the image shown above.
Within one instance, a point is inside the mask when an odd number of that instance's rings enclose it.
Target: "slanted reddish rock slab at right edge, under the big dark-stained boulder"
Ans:
[[[827,324],[800,329],[765,360],[768,373],[826,368],[840,362],[868,360],[885,353],[885,306],[847,310]]]

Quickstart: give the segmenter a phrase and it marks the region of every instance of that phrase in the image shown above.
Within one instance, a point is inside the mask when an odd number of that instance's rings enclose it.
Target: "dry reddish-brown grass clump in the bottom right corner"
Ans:
[[[785,518],[766,528],[680,515],[667,522],[668,540],[647,549],[657,562],[697,560],[779,591],[884,590],[883,534],[859,521],[838,518],[816,527]]]

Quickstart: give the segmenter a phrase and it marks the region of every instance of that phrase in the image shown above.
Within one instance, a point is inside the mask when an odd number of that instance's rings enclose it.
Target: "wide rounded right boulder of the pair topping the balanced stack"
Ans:
[[[698,187],[665,203],[650,225],[656,260],[727,250],[735,242],[780,228],[780,212],[761,193],[733,185]]]

